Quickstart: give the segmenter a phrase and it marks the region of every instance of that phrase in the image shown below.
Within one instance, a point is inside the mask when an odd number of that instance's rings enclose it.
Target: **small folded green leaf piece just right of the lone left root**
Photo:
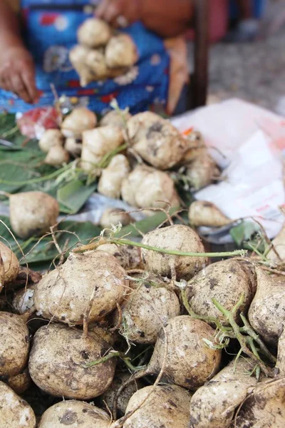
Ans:
[[[74,214],[83,207],[95,188],[95,184],[84,185],[81,180],[73,180],[59,188],[56,197],[58,202],[63,205],[62,209],[66,208],[65,213]]]

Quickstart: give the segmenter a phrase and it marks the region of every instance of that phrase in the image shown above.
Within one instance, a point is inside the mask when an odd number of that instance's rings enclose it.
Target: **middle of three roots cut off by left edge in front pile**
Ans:
[[[28,327],[19,316],[0,312],[0,376],[19,374],[28,361]]]

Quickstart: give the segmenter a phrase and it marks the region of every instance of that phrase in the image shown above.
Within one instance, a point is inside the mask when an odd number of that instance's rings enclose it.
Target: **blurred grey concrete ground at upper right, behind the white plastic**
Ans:
[[[285,116],[284,0],[269,1],[259,41],[212,46],[208,102],[232,97]]]

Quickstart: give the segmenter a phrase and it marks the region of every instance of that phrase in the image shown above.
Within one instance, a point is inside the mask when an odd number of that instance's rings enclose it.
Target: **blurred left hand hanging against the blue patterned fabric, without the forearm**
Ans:
[[[1,54],[0,87],[16,93],[26,103],[38,100],[33,58],[24,47],[10,47]]]

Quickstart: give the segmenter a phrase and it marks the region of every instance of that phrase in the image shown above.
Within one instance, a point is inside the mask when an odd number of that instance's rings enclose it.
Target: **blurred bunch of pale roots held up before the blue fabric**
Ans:
[[[78,29],[78,45],[69,53],[81,86],[125,74],[138,61],[133,39],[100,19],[87,19]]]

